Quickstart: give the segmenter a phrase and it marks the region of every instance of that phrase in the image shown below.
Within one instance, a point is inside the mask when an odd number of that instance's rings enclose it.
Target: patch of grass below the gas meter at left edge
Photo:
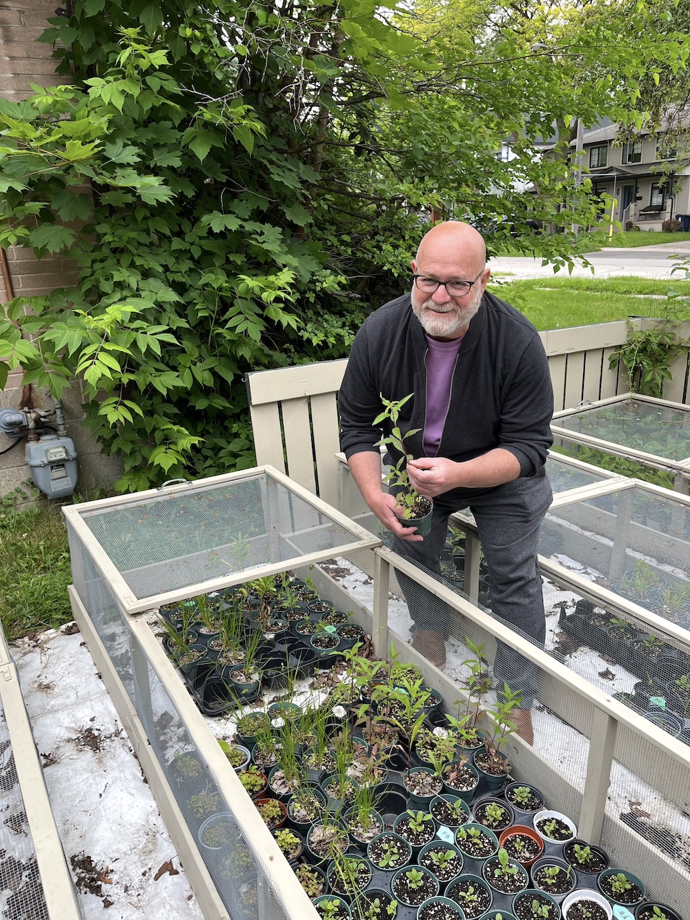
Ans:
[[[8,640],[73,619],[69,545],[59,509],[0,506],[0,619]]]

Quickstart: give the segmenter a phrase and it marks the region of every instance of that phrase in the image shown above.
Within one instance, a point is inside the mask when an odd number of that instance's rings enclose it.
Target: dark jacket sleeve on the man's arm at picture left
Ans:
[[[350,360],[338,395],[340,450],[349,460],[362,451],[378,453],[375,443],[383,436],[373,422],[383,405],[370,360],[367,324],[364,322],[352,341]]]

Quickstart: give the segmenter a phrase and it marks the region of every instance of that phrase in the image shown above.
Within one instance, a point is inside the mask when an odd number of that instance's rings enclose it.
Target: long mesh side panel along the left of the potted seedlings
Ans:
[[[224,798],[137,638],[131,635],[130,639],[139,718],[180,811],[200,841],[201,857],[227,910],[242,920],[284,920],[280,892],[272,889],[267,868],[233,816],[232,803]],[[181,685],[180,691],[184,692]],[[218,827],[220,845],[203,845]]]

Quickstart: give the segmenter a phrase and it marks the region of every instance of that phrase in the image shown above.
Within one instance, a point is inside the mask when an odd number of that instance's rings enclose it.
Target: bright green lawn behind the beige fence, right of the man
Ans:
[[[690,282],[632,276],[537,278],[489,282],[489,290],[517,307],[537,329],[544,331],[611,323],[628,316],[656,316],[660,298],[665,298],[669,291],[690,297]]]

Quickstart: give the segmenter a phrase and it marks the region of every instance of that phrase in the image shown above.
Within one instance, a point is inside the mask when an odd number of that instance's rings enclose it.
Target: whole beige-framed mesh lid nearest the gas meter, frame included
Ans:
[[[129,614],[381,545],[272,466],[63,512],[73,572],[86,553]]]

